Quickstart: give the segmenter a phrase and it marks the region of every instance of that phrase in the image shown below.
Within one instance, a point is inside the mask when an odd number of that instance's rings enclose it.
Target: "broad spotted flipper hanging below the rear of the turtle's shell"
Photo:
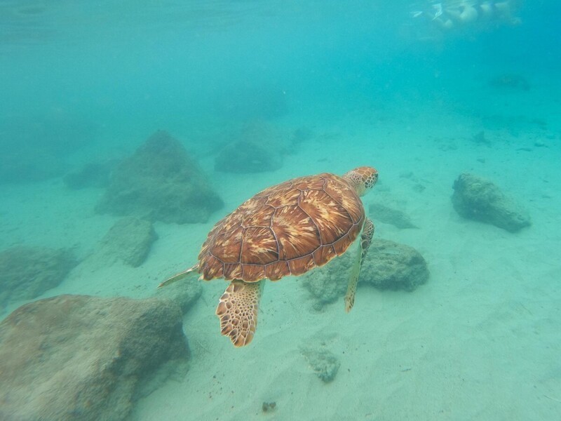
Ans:
[[[220,297],[216,315],[222,335],[227,335],[235,347],[248,345],[257,328],[257,310],[264,281],[231,281]]]

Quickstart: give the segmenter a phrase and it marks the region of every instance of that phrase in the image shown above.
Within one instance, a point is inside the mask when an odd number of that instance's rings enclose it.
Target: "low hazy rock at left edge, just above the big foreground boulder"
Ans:
[[[70,250],[17,246],[0,252],[0,307],[55,288],[76,266]]]

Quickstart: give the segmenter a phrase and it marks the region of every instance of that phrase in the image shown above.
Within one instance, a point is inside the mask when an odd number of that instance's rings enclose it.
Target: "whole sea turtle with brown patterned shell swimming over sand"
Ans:
[[[377,180],[378,172],[365,166],[343,176],[308,175],[264,189],[212,227],[196,265],[160,286],[191,272],[200,273],[199,279],[205,281],[231,281],[216,314],[222,335],[229,336],[236,347],[243,347],[255,334],[264,279],[278,281],[323,266],[342,255],[362,233],[345,295],[349,312],[360,265],[374,234],[359,196]]]

